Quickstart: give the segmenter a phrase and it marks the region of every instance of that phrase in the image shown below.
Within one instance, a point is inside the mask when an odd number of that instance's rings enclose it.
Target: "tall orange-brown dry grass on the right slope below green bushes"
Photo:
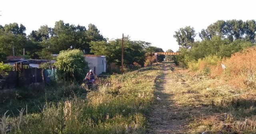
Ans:
[[[234,53],[230,58],[221,59],[218,56],[207,56],[198,61],[188,63],[189,69],[212,78],[226,78],[236,87],[256,89],[256,47],[251,47]],[[226,66],[223,69],[221,64]]]

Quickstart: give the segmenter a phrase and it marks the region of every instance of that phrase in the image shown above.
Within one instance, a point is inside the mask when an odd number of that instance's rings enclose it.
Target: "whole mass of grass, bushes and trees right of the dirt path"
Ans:
[[[218,20],[203,29],[202,40],[196,42],[190,26],[175,32],[181,47],[174,60],[191,72],[176,71],[184,86],[176,87],[180,90],[173,100],[189,110],[190,133],[256,132],[255,24],[254,20]]]

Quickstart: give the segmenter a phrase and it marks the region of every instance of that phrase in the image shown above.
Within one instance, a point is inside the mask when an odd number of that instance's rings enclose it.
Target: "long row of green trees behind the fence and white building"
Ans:
[[[121,64],[122,39],[109,40],[100,34],[94,24],[85,26],[56,21],[53,28],[47,25],[25,33],[26,27],[18,23],[0,25],[0,60],[6,56],[22,56],[32,59],[52,60],[52,54],[62,50],[79,49],[84,54],[105,55],[108,63]],[[144,66],[149,52],[164,52],[162,48],[151,46],[150,42],[124,38],[124,64],[134,62]]]

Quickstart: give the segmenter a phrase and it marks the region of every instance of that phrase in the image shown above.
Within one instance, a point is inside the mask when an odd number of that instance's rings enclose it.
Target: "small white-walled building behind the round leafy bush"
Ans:
[[[84,57],[94,74],[99,75],[102,72],[106,72],[106,56],[86,54]]]

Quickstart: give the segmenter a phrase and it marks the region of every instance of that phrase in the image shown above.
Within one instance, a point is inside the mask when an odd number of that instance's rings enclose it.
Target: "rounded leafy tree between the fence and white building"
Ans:
[[[58,68],[58,76],[64,80],[76,80],[82,82],[86,73],[89,71],[81,50],[63,50],[58,55],[55,66]]]

